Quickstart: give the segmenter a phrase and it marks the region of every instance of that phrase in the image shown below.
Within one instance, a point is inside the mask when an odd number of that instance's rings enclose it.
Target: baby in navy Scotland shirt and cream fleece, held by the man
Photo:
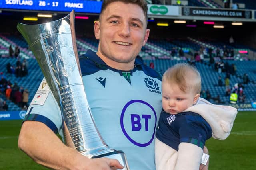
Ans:
[[[236,109],[210,104],[199,98],[200,91],[201,77],[193,66],[176,64],[164,73],[156,170],[199,170],[206,140],[212,134],[222,140],[230,134]]]

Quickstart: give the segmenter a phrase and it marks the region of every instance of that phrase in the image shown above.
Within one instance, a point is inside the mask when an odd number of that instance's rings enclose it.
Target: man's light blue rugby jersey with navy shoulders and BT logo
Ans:
[[[131,170],[155,170],[154,137],[162,111],[160,74],[139,61],[127,73],[110,68],[91,50],[79,59],[88,103],[104,141],[126,154]],[[44,80],[38,90],[43,84]],[[40,91],[33,100],[38,95]],[[41,121],[62,135],[60,109],[51,93],[32,101],[25,120]]]

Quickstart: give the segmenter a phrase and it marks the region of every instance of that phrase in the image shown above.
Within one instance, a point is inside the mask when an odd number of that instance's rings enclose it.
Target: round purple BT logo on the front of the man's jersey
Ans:
[[[136,110],[143,110],[143,113],[134,113]],[[120,125],[130,142],[146,147],[154,139],[156,119],[156,111],[150,104],[143,100],[131,100],[122,110]]]

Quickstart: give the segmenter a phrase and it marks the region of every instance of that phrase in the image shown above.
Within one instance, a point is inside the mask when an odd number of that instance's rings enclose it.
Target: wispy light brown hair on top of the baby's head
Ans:
[[[179,63],[164,72],[162,82],[170,85],[176,83],[182,92],[193,90],[195,94],[201,92],[201,76],[198,70],[187,63]]]

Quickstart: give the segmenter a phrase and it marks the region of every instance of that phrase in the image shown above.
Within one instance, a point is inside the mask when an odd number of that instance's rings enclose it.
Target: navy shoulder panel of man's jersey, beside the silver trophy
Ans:
[[[94,74],[100,70],[107,70],[108,66],[100,57],[92,50],[88,50],[86,54],[79,56],[79,63],[82,76]]]

